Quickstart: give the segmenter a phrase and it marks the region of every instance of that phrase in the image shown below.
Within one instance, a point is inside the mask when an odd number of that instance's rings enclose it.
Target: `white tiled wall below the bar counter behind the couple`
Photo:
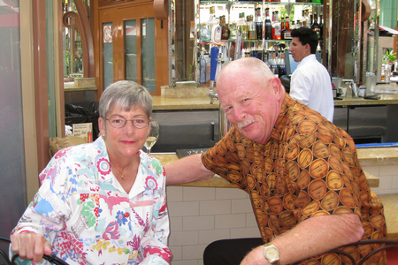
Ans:
[[[363,167],[379,178],[376,194],[398,193],[398,165]],[[203,265],[218,239],[259,238],[248,193],[237,188],[167,187],[172,265]]]

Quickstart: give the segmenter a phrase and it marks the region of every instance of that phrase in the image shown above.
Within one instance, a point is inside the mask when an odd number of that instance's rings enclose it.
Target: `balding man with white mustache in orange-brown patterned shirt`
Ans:
[[[348,133],[287,95],[256,58],[228,64],[217,88],[232,129],[203,155],[180,159],[165,171],[167,185],[217,173],[249,193],[265,245],[248,249],[243,261],[219,264],[322,264],[322,259],[341,264],[339,255],[325,252],[385,238],[383,206],[371,193]],[[372,247],[353,251],[361,259]],[[226,249],[215,253],[233,256],[234,249],[226,242]],[[377,259],[387,264],[384,253]]]

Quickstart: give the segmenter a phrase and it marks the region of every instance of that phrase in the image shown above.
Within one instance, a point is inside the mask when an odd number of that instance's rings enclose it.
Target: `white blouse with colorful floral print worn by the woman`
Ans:
[[[139,155],[127,194],[112,174],[101,137],[58,151],[12,233],[42,234],[69,264],[169,264],[165,171],[157,159]]]

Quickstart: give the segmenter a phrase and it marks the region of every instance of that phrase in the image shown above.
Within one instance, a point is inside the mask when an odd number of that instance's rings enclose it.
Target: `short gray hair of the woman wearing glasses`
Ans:
[[[152,97],[147,88],[133,81],[118,81],[103,91],[99,101],[99,117],[106,117],[108,111],[115,107],[124,111],[142,107],[147,116],[151,117]]]

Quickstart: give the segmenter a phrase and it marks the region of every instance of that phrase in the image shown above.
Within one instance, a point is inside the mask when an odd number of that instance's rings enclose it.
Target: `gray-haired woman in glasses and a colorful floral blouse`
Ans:
[[[17,227],[11,250],[69,264],[168,264],[165,171],[141,148],[152,99],[132,81],[107,87],[99,102],[95,142],[57,152]]]

